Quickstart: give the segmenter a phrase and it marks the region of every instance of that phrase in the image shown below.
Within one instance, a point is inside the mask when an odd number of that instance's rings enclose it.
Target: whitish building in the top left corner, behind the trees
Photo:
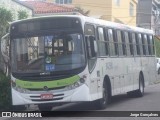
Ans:
[[[0,0],[0,7],[5,7],[8,10],[11,10],[13,13],[13,19],[18,19],[18,11],[23,10],[26,11],[28,17],[32,17],[32,8],[23,4],[23,2],[19,0]]]

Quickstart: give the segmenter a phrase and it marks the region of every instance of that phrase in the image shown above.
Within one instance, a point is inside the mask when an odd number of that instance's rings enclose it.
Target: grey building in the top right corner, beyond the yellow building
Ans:
[[[152,29],[156,35],[160,35],[159,17],[160,0],[139,0],[137,26]]]

